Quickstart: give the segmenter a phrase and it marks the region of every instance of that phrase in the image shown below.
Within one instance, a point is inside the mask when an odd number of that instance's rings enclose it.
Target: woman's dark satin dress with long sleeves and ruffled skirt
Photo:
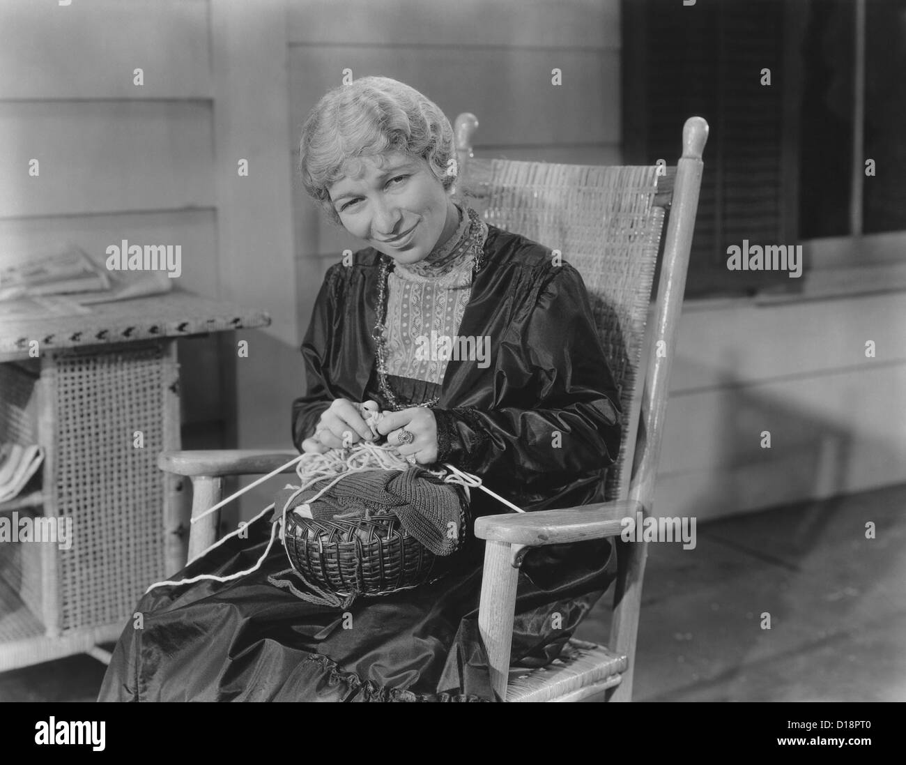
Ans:
[[[582,279],[552,266],[545,247],[494,227],[485,255],[459,334],[487,334],[490,364],[450,361],[442,385],[391,377],[393,390],[412,404],[440,395],[439,461],[482,476],[519,507],[601,501],[621,418]],[[387,408],[371,344],[378,257],[361,250],[354,266],[333,266],[324,280],[303,344],[309,392],[293,406],[297,447],[334,398]],[[470,510],[509,511],[480,489]],[[248,530],[169,578],[254,566],[267,518]],[[268,582],[288,565],[280,545],[254,574],[158,587],[136,609],[141,628],[133,620],[123,631],[99,700],[495,701],[477,629],[483,554],[472,539],[439,582],[359,598],[345,614]],[[530,551],[512,662],[552,661],[611,584],[614,563],[607,540]]]

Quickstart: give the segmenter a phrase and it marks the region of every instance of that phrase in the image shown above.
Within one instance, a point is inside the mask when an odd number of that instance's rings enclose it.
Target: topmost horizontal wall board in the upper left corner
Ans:
[[[207,39],[207,0],[4,0],[0,99],[206,97]]]

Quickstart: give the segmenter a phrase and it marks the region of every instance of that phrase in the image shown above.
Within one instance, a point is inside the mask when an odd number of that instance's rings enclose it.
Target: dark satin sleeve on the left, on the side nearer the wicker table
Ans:
[[[314,301],[312,320],[302,344],[308,392],[293,402],[293,443],[300,451],[302,442],[314,434],[318,419],[335,398],[329,390],[326,360],[334,325],[333,315],[339,305],[339,282],[338,266],[331,266]]]

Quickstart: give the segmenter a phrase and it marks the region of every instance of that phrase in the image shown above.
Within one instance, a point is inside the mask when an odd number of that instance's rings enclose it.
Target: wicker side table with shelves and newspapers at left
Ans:
[[[267,324],[176,291],[0,322],[0,440],[45,451],[41,488],[0,515],[72,518],[69,549],[0,543],[0,671],[102,657],[145,587],[184,564],[182,487],[157,466],[180,445],[176,339]]]

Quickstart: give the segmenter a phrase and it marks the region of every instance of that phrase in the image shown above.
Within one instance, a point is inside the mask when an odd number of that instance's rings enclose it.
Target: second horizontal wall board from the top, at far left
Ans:
[[[215,206],[210,102],[0,103],[0,146],[0,218]]]

